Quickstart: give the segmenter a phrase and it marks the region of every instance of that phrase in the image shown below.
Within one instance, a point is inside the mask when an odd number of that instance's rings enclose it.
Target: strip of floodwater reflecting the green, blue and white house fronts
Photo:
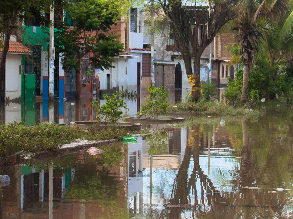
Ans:
[[[24,122],[25,125],[54,122],[57,124],[70,123],[73,121],[90,121],[96,118],[96,111],[90,105],[93,99],[84,97],[80,99],[68,99],[67,101],[43,101],[8,103],[0,105],[0,123]],[[128,115],[137,113],[137,100],[125,99],[130,111]],[[105,100],[100,100],[104,104]]]

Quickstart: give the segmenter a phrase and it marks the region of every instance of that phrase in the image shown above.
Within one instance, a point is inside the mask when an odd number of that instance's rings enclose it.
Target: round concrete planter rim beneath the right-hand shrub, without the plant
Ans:
[[[159,116],[157,119],[153,119],[150,116],[142,117],[126,117],[127,123],[148,123],[148,124],[166,124],[166,123],[179,123],[184,122],[185,118],[174,116]]]

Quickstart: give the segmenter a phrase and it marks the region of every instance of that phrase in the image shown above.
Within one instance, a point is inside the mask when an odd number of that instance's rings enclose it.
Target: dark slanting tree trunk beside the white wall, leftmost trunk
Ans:
[[[0,61],[0,101],[4,101],[4,75],[5,75],[5,63],[6,63],[6,56],[9,49],[9,40],[10,40],[11,33],[7,32],[5,34],[4,39],[4,48],[1,54],[1,61]]]

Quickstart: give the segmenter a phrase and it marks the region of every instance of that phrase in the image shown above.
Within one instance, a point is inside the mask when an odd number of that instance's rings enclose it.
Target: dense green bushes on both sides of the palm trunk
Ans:
[[[274,66],[270,66],[266,52],[259,52],[255,57],[255,65],[248,76],[248,100],[254,106],[260,99],[273,100],[276,96],[290,96],[293,87],[293,75],[289,65],[284,61],[279,61]],[[229,81],[228,89],[224,96],[228,99],[228,104],[237,106],[240,104],[242,91],[243,70],[238,70],[234,81]]]

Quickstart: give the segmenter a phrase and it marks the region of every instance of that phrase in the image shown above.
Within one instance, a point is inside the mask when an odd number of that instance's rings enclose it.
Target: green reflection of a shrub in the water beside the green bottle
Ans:
[[[168,132],[161,129],[147,136],[148,154],[162,154],[168,148]]]

